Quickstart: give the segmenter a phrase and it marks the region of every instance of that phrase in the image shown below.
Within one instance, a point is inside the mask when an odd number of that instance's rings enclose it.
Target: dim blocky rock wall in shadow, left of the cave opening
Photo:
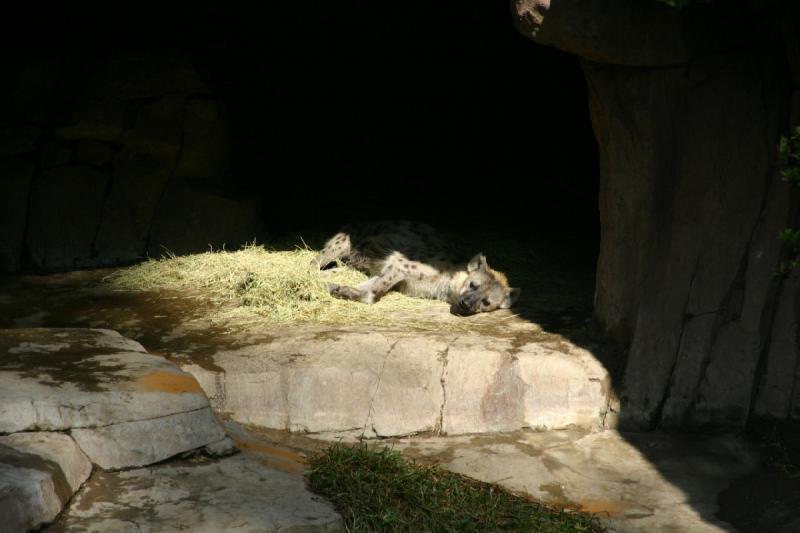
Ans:
[[[225,106],[178,50],[25,58],[3,73],[0,273],[229,248],[259,232],[232,195]]]

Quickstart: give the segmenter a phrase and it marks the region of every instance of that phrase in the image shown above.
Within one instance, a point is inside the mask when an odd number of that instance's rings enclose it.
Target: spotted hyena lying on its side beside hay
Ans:
[[[371,304],[394,289],[444,300],[458,315],[508,309],[520,289],[492,270],[483,254],[459,261],[451,244],[418,222],[371,222],[345,226],[314,260],[325,268],[337,259],[370,276],[357,287],[330,284],[333,296]]]

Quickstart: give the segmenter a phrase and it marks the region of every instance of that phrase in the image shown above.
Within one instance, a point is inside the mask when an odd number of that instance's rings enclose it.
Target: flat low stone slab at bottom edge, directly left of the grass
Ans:
[[[339,531],[339,515],[299,475],[237,455],[93,476],[48,532]]]

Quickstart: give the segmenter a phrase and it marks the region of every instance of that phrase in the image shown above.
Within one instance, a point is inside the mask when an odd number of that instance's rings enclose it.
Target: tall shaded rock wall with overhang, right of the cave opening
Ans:
[[[721,4],[512,2],[523,34],[583,58],[601,162],[595,318],[627,350],[627,428],[800,419],[798,274],[776,275],[778,232],[797,219],[776,165],[800,114],[800,17]]]

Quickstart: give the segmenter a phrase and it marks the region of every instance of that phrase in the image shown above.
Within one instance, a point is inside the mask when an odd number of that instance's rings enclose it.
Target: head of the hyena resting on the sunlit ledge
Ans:
[[[520,289],[508,286],[505,274],[489,268],[486,257],[478,254],[467,264],[467,278],[451,310],[457,315],[466,316],[508,309],[519,293]]]

